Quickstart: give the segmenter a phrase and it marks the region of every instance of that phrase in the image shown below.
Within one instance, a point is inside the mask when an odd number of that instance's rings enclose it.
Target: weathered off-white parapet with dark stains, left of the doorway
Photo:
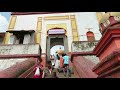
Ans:
[[[1,55],[41,55],[39,44],[0,45]]]

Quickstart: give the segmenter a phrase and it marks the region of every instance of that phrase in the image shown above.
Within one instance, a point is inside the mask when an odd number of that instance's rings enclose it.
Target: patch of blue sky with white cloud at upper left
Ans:
[[[0,32],[5,32],[8,28],[8,22],[11,12],[0,12]]]

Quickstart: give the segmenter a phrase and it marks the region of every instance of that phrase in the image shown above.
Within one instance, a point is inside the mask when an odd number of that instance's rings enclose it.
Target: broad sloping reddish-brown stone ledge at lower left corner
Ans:
[[[17,78],[36,63],[36,60],[29,58],[26,61],[13,65],[0,71],[0,78]]]

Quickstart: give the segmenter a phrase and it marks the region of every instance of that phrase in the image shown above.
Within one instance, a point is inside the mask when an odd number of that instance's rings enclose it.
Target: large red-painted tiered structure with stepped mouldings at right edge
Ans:
[[[110,24],[107,27],[104,23],[100,24],[103,36],[93,51],[100,63],[93,71],[98,78],[120,78],[120,21],[115,21],[113,16],[108,21]]]

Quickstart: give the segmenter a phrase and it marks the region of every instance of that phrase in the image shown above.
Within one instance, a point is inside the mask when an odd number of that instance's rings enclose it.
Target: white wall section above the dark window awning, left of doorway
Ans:
[[[14,30],[36,30],[38,17],[64,16],[72,13],[18,15]]]

